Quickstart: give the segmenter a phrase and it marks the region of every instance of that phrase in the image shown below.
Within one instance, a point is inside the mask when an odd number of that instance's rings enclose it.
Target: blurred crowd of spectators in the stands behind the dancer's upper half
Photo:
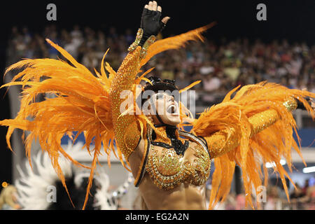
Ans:
[[[27,27],[13,27],[6,64],[21,58],[59,57],[57,50],[45,42],[45,38],[50,38],[92,72],[94,68],[99,71],[104,52],[110,48],[106,62],[117,70],[134,41],[135,31],[127,29],[118,34],[115,27],[105,31],[75,25],[66,30],[50,25],[41,33],[34,33]],[[191,42],[186,48],[162,52],[146,64],[144,71],[153,66],[151,75],[176,79],[180,88],[202,80],[194,87],[200,106],[221,102],[237,85],[262,80],[315,92],[315,45],[306,43],[286,40],[262,43],[246,38],[211,41],[209,37],[204,43]]]

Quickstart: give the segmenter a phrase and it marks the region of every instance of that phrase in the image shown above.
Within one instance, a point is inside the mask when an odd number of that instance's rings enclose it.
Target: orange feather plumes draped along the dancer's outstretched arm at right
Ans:
[[[240,139],[239,146],[228,153],[214,158],[215,171],[212,176],[212,188],[209,209],[213,209],[217,202],[224,201],[230,192],[230,186],[235,172],[235,165],[241,168],[246,195],[246,205],[252,208],[252,193],[258,195],[258,188],[262,186],[262,177],[265,176],[264,186],[267,186],[268,172],[266,162],[274,163],[274,171],[279,173],[283,188],[288,197],[288,188],[285,177],[291,182],[290,176],[282,167],[281,158],[286,159],[291,169],[291,149],[301,156],[299,147],[293,139],[293,131],[296,132],[296,123],[292,113],[283,106],[283,102],[290,97],[304,104],[305,108],[315,118],[314,111],[303,97],[315,97],[314,93],[302,90],[290,90],[274,83],[258,83],[246,85],[236,92],[235,97],[231,95],[238,89],[230,91],[223,102],[212,106],[200,115],[194,123],[193,131],[204,137],[211,136],[220,130],[226,130],[228,136],[224,147],[230,141],[230,136],[236,134]],[[252,135],[251,116],[273,109],[279,115],[279,119],[273,125],[262,132]],[[298,135],[297,135],[298,137]],[[208,144],[218,144],[208,142]],[[263,166],[263,170],[261,169]],[[294,186],[294,183],[293,183]],[[258,205],[259,206],[259,205]]]

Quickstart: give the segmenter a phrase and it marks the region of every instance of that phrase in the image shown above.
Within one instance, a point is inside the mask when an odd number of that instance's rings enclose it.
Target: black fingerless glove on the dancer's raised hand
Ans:
[[[140,28],[144,30],[144,34],[139,45],[143,46],[150,36],[157,36],[158,33],[164,29],[164,27],[165,23],[161,21],[160,11],[148,10],[147,8],[144,8],[140,23]]]

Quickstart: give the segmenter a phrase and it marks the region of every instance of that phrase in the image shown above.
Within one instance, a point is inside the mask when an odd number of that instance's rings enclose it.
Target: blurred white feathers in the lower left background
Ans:
[[[74,145],[69,142],[65,151],[75,160],[88,160],[91,158],[87,151],[83,150],[81,142]],[[51,165],[48,153],[40,151],[31,159],[34,171],[31,170],[28,160],[25,161],[24,171],[20,166],[17,167],[20,174],[20,178],[15,181],[15,187],[18,190],[18,203],[22,209],[26,210],[47,209],[52,203],[47,200],[47,195],[50,193],[48,187],[54,186],[59,178]],[[64,172],[65,178],[75,175],[74,183],[76,186],[81,185],[83,178],[90,176],[90,173],[87,172],[73,173],[71,162],[62,155],[59,158],[59,165],[62,172]],[[127,188],[133,181],[132,174],[129,174],[127,180],[117,190],[109,193],[109,176],[104,171],[97,172],[94,179],[100,186],[94,195],[96,199],[94,207],[99,207],[102,210],[116,210],[118,208],[118,199],[127,193]]]

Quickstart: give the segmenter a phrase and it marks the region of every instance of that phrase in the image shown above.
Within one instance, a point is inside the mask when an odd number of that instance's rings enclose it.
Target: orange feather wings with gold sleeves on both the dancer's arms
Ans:
[[[15,128],[29,131],[30,134],[25,139],[29,162],[31,163],[31,143],[38,139],[42,150],[48,153],[52,166],[66,188],[64,174],[59,165],[59,155],[64,155],[75,165],[85,166],[64,151],[61,147],[61,139],[64,135],[74,137],[73,132],[77,132],[73,139],[75,140],[78,134],[84,133],[85,147],[89,153],[93,153],[94,157],[90,167],[85,167],[90,169],[86,202],[102,144],[107,155],[113,151],[123,166],[128,169],[128,158],[137,146],[136,140],[146,136],[148,125],[155,132],[159,132],[143,114],[127,113],[137,111],[136,104],[126,109],[124,113],[120,113],[120,105],[123,102],[123,99],[120,99],[121,92],[131,90],[135,95],[137,85],[141,80],[148,80],[144,76],[151,69],[141,76],[137,77],[137,74],[141,72],[141,66],[144,66],[151,57],[165,50],[181,48],[187,41],[203,40],[201,33],[213,25],[155,43],[153,40],[150,43],[149,40],[142,48],[138,46],[130,51],[117,72],[113,71],[108,63],[104,66],[105,54],[100,73],[95,70],[96,76],[85,66],[76,62],[64,49],[47,40],[69,63],[60,59],[24,59],[6,70],[8,72],[25,68],[13,78],[11,83],[2,86],[22,85],[23,90],[18,116],[15,119],[0,121],[0,125],[8,126],[6,135],[8,147],[12,150],[10,136]],[[109,75],[106,74],[104,67]],[[46,79],[41,80],[42,77]],[[197,83],[189,85],[181,92],[195,84]],[[53,93],[56,97],[45,99],[43,102],[34,102],[36,95],[44,92]],[[204,111],[198,120],[192,119],[189,111],[180,104],[182,120],[180,127],[183,127],[184,122],[193,124],[193,133],[207,140],[209,151],[215,158],[216,171],[213,176],[211,207],[221,196],[228,193],[235,163],[242,167],[246,192],[251,189],[252,183],[254,186],[260,184],[260,169],[258,169],[258,161],[254,154],[258,154],[258,157],[265,162],[276,162],[276,171],[280,173],[283,181],[283,175],[287,174],[279,163],[280,156],[284,155],[290,161],[291,146],[297,151],[298,148],[292,137],[292,127],[296,126],[295,121],[286,106],[281,105],[289,97],[294,97],[301,100],[311,111],[302,97],[315,97],[307,91],[288,90],[280,85],[262,83],[241,88],[233,99],[230,99],[231,94],[232,92],[225,97],[222,104]],[[295,102],[294,99],[293,102]],[[267,125],[261,119],[260,123],[258,121],[255,124],[251,123],[251,119],[255,120],[255,115],[260,118],[265,116],[265,120],[269,120],[269,116],[272,116],[274,125],[270,123],[272,127],[263,130]],[[314,113],[312,115],[314,116]],[[259,125],[262,127],[259,128]],[[262,132],[258,133],[258,131]],[[94,148],[90,149],[92,143],[94,143]],[[288,164],[290,165],[290,162]],[[250,197],[246,199],[251,202]],[[85,205],[83,209],[84,207]]]

